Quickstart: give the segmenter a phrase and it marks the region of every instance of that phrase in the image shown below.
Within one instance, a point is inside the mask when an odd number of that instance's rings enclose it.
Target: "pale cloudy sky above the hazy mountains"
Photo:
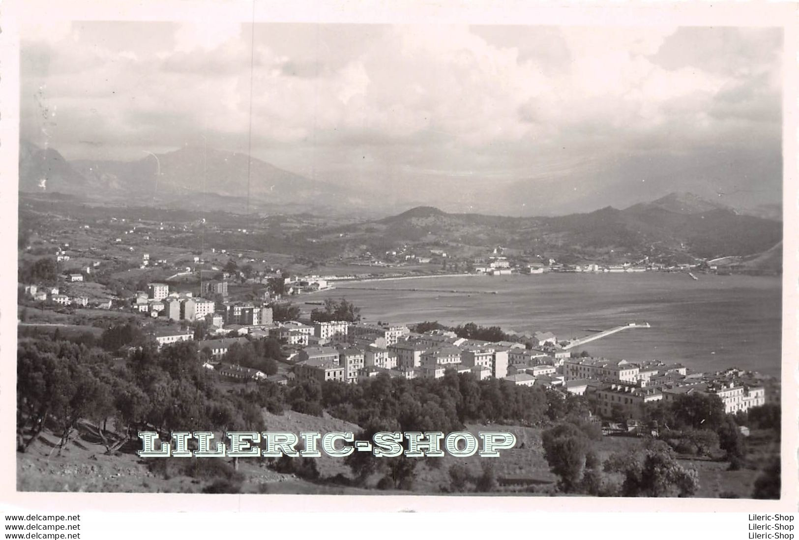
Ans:
[[[68,159],[246,151],[252,109],[254,156],[408,200],[780,201],[780,29],[214,20],[22,37],[22,137]]]

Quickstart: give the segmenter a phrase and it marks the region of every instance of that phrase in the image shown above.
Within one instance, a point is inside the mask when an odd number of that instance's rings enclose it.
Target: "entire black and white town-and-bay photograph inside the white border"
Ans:
[[[15,490],[781,498],[783,26],[244,4],[19,26]]]

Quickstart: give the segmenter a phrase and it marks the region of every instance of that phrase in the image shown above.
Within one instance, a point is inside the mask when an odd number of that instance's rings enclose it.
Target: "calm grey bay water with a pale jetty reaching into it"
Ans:
[[[646,322],[651,328],[623,330],[574,350],[682,362],[699,371],[740,367],[779,376],[781,279],[698,277],[549,273],[348,282],[300,302],[344,297],[360,306],[368,322],[475,322],[517,332],[550,331],[558,339]]]

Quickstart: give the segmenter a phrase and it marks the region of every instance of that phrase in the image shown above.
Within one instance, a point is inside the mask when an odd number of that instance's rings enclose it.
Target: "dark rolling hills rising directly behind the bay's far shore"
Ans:
[[[690,193],[671,193],[629,208],[556,217],[505,217],[411,208],[396,216],[335,228],[323,238],[344,237],[385,247],[402,243],[493,246],[566,252],[610,249],[640,256],[684,254],[699,258],[753,256],[782,238],[777,220],[747,216]]]

